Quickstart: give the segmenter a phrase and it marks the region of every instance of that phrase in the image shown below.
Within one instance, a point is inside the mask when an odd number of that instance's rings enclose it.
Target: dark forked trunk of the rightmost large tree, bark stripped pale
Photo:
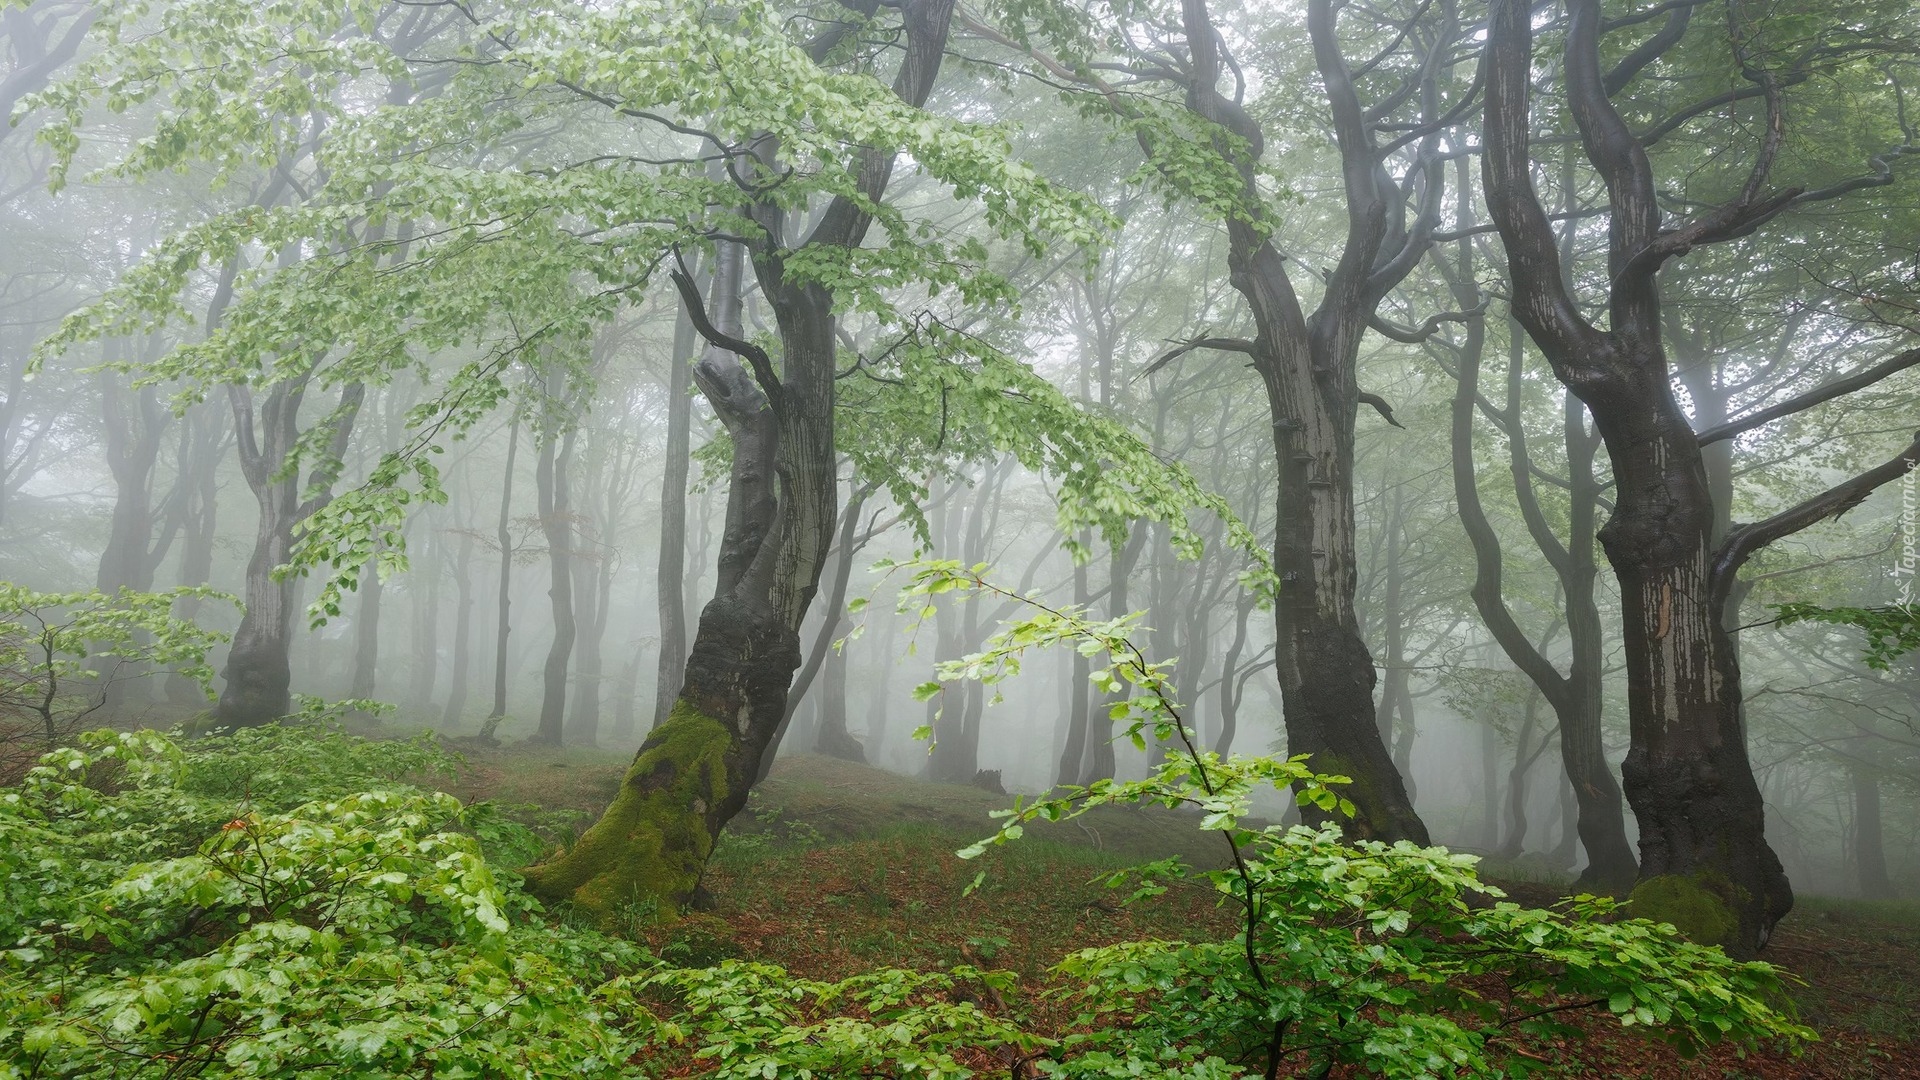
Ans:
[[[1743,555],[1713,542],[1713,494],[1699,440],[1674,400],[1655,271],[1684,246],[1757,225],[1763,208],[1749,186],[1726,213],[1684,229],[1690,238],[1676,246],[1680,233],[1663,227],[1645,152],[1609,102],[1599,37],[1599,2],[1572,0],[1569,104],[1611,209],[1605,331],[1572,302],[1534,194],[1532,10],[1517,0],[1496,0],[1488,37],[1484,188],[1507,248],[1513,313],[1586,402],[1613,463],[1615,509],[1597,536],[1620,586],[1632,736],[1620,774],[1640,822],[1636,909],[1751,953],[1793,905],[1793,890],[1766,844],[1740,661],[1720,621]]]

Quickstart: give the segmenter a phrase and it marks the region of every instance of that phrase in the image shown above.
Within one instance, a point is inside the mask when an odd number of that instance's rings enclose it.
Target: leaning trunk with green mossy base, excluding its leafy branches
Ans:
[[[952,0],[900,6],[904,56],[893,88],[910,106],[922,106],[933,88],[950,17]],[[816,60],[831,48],[833,40],[816,42]],[[804,238],[787,236],[778,204],[749,202],[743,211],[758,231],[739,244],[716,244],[708,296],[684,271],[674,275],[708,344],[693,379],[733,436],[714,598],[701,611],[674,709],[641,744],[612,805],[564,855],[526,871],[547,899],[568,899],[599,919],[636,901],[687,905],[720,828],[747,805],[787,713],[787,688],[801,667],[801,621],[837,517],[835,298],[818,282],[791,281],[787,261],[860,246],[872,225],[866,208],[885,192],[893,154],[868,148],[860,158],[860,196],[835,198]],[[751,256],[774,311],[778,365],[741,338],[743,256]]]

